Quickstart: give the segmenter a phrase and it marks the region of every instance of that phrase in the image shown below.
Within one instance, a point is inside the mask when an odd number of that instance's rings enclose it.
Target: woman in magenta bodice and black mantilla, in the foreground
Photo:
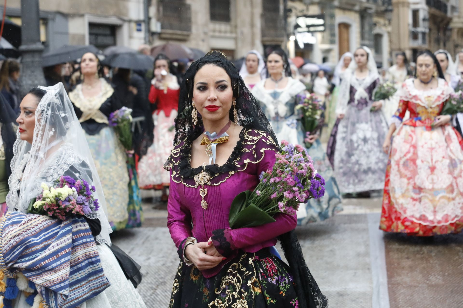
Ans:
[[[224,54],[212,51],[190,66],[179,110],[167,167],[168,227],[181,261],[169,307],[327,307],[294,235],[295,216],[280,213],[274,223],[229,228],[232,200],[257,186],[279,147]],[[208,153],[205,136],[225,141]],[[271,252],[277,237],[289,266]]]

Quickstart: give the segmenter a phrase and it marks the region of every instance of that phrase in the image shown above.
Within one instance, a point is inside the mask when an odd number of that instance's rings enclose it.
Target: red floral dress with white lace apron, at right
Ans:
[[[400,90],[380,229],[414,236],[458,233],[463,229],[463,139],[450,125],[432,127],[452,88],[444,79],[429,91],[407,79]]]

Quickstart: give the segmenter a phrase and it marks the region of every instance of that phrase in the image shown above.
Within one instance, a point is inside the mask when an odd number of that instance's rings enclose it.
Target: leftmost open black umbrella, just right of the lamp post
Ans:
[[[88,52],[99,54],[100,50],[93,45],[64,45],[44,53],[42,55],[42,66],[52,66],[75,61]]]

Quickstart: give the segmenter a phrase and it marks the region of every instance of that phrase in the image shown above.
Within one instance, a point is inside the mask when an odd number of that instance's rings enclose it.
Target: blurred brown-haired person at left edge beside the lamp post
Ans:
[[[6,60],[0,69],[0,91],[6,102],[9,103],[13,111],[19,113],[19,63],[14,60]]]

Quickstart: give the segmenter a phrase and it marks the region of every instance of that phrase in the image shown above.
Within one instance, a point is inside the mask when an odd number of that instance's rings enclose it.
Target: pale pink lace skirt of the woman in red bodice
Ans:
[[[175,129],[174,120],[177,111],[172,110],[170,116],[166,117],[161,110],[159,115],[153,115],[155,123],[153,144],[148,152],[138,162],[138,183],[142,188],[153,188],[156,186],[169,186],[169,171],[164,169],[164,163],[173,148]]]

